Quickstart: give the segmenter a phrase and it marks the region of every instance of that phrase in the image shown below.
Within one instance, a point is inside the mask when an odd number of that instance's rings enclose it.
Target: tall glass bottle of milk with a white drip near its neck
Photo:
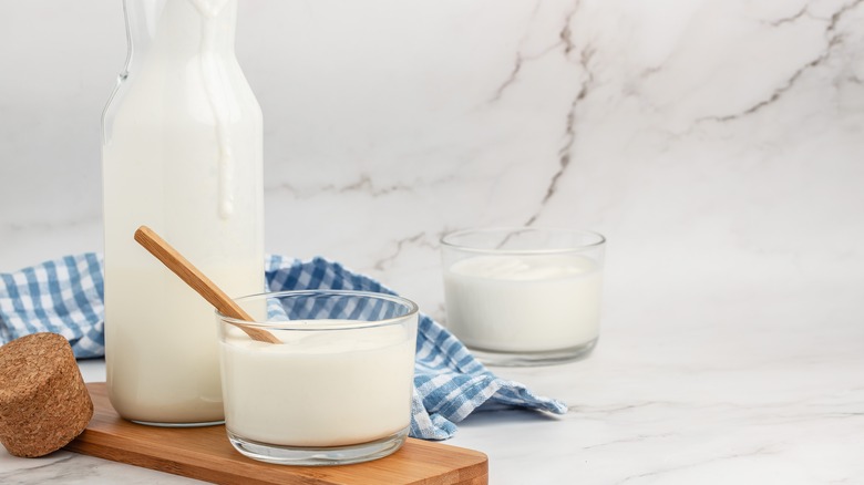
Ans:
[[[103,115],[111,403],[222,422],[213,308],[133,240],[147,225],[229,296],[264,289],[261,111],[234,54],[237,0],[124,0],[128,58]]]

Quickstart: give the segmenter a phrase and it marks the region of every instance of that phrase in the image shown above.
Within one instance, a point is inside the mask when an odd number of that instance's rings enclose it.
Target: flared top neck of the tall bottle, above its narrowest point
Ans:
[[[130,63],[234,55],[237,0],[124,0]]]

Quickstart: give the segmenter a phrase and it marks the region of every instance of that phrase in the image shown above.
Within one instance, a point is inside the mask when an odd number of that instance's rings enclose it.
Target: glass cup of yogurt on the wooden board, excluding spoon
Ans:
[[[418,307],[362,291],[306,290],[235,300],[217,312],[225,427],[251,458],[338,465],[387,456],[411,421]],[[241,327],[281,343],[253,340]]]

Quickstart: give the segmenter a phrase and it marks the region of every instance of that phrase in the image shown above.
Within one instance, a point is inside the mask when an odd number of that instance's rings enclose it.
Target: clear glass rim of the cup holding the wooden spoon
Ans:
[[[217,309],[214,309],[216,318],[219,322],[230,323],[236,327],[259,328],[270,330],[297,330],[297,331],[322,331],[322,330],[354,330],[354,329],[368,329],[374,327],[387,327],[392,324],[399,324],[405,319],[413,318],[420,313],[420,307],[408,298],[397,295],[380,293],[376,291],[363,290],[331,290],[331,289],[308,289],[308,290],[280,290],[280,291],[264,291],[260,293],[245,295],[243,297],[232,298],[232,301],[241,303],[244,301],[263,300],[268,298],[281,298],[281,297],[308,297],[308,296],[333,296],[333,297],[362,297],[372,298],[377,300],[387,300],[394,303],[403,305],[408,308],[408,311],[399,317],[381,319],[381,320],[346,320],[350,323],[318,323],[317,319],[302,319],[302,320],[278,320],[272,322],[263,321],[248,321],[234,317],[228,317]],[[326,319],[320,319],[326,320]]]

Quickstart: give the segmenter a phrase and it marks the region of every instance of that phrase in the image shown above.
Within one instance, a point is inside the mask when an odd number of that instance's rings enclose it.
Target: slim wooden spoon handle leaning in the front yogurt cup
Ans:
[[[222,314],[235,318],[237,320],[255,320],[249,316],[249,313],[244,311],[239,305],[225,295],[225,291],[217,287],[215,282],[210,281],[209,278],[204,276],[204,274],[200,272],[200,270],[198,270],[195,265],[189,262],[188,259],[184,258],[183,255],[177,252],[176,249],[167,244],[165,239],[153,231],[153,229],[147,226],[138,227],[138,229],[135,231],[135,240],[138,241],[140,245],[144,246],[144,249],[150,251],[151,255],[155,256],[156,259],[162,261],[162,264],[171,269],[175,275],[177,275],[184,282],[186,282],[186,285],[192,287],[192,289],[197,291],[198,295],[204,297],[205,300],[216,307],[216,309],[219,310]],[[277,339],[267,330],[247,326],[237,327],[246,332],[246,334],[251,337],[253,340],[269,343],[281,343],[279,339]]]

